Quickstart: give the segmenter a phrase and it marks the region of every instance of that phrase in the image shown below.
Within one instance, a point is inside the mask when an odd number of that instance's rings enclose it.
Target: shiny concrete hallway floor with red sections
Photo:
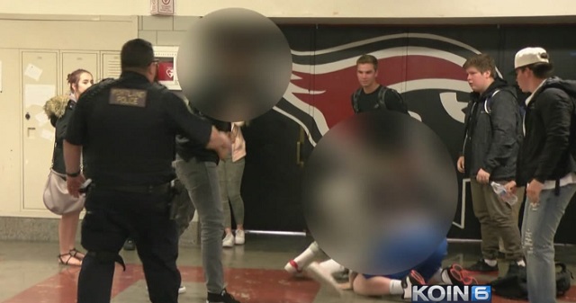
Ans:
[[[247,244],[225,249],[223,263],[229,292],[242,303],[368,303],[401,302],[401,299],[362,298],[345,292],[335,297],[308,278],[294,278],[284,272],[284,264],[311,243],[302,236],[263,236],[247,234]],[[474,263],[479,258],[479,244],[450,244],[446,264]],[[558,260],[576,272],[576,247],[556,247]],[[1,303],[73,303],[79,268],[58,265],[58,244],[53,242],[0,242]],[[117,266],[112,290],[113,303],[148,302],[146,283],[136,252],[123,251],[127,271]],[[200,248],[183,246],[179,267],[187,291],[180,302],[205,302]],[[502,263],[503,265],[505,263]],[[508,268],[500,266],[500,274]],[[490,281],[495,276],[477,276]],[[494,297],[494,303],[514,302]],[[576,288],[559,302],[576,302]]]

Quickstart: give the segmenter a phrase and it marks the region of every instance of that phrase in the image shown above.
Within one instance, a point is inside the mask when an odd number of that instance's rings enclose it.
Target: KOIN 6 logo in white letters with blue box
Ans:
[[[412,286],[412,302],[491,302],[491,286]]]

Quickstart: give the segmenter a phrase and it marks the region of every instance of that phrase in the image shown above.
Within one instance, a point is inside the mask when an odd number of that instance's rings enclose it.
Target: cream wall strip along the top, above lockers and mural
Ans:
[[[148,15],[150,0],[0,1],[0,13]],[[86,8],[89,7],[89,10]],[[244,7],[278,18],[470,18],[574,16],[573,0],[175,0],[175,13],[202,16],[224,7]]]

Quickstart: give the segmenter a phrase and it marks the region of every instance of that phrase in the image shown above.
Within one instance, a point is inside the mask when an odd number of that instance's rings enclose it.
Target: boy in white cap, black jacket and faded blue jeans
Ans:
[[[527,258],[528,300],[556,302],[554,235],[576,192],[576,142],[572,122],[576,85],[552,76],[550,56],[542,48],[521,49],[514,58],[518,86],[527,98],[525,138],[518,154],[516,181],[527,186],[522,245]]]

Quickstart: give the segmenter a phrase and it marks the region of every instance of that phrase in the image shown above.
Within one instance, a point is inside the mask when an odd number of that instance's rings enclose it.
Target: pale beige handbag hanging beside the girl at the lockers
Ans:
[[[64,215],[84,209],[85,197],[72,196],[67,190],[66,175],[58,174],[50,169],[48,181],[44,187],[43,200],[46,209],[57,215]]]

